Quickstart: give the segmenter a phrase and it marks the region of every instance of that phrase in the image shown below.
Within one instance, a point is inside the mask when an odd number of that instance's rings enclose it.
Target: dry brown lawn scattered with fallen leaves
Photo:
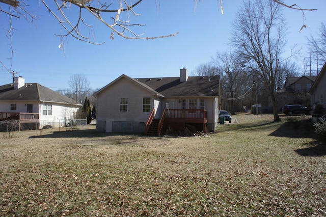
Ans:
[[[311,116],[235,117],[208,137],[15,132],[0,141],[0,215],[325,216]]]

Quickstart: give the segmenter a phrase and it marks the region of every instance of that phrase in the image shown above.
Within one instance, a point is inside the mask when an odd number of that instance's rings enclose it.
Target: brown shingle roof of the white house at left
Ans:
[[[14,89],[13,84],[0,86],[0,101],[45,101],[76,104],[75,100],[38,83],[26,83],[18,89]]]

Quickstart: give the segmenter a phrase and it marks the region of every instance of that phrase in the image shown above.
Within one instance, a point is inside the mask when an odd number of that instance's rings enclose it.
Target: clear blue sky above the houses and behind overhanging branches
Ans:
[[[52,1],[48,1],[52,2]],[[111,31],[102,23],[93,21],[96,41],[102,45],[92,45],[72,37],[64,40],[64,51],[59,49],[60,38],[55,34],[63,33],[62,28],[39,1],[27,1],[29,11],[37,11],[40,17],[31,23],[23,18],[13,18],[15,28],[12,46],[14,48],[11,70],[25,78],[26,83],[39,83],[53,90],[69,89],[71,75],[85,74],[93,89],[102,88],[121,74],[133,78],[141,77],[176,77],[179,70],[186,67],[194,74],[196,67],[207,63],[216,51],[228,51],[231,23],[242,1],[224,0],[224,14],[220,10],[220,1],[202,0],[195,8],[194,1],[186,0],[144,0],[135,7],[140,17],[131,17],[134,23],[146,24],[135,29],[145,31],[146,37],[169,35],[179,32],[175,37],[155,40],[126,40],[115,36],[110,39]],[[316,36],[321,22],[325,22],[326,1],[296,0],[285,1],[289,5],[297,4],[302,8],[317,8],[306,11],[306,20],[300,11],[284,8],[288,22],[288,50],[294,44],[302,46],[301,58],[309,57],[305,48],[307,37]],[[6,5],[0,3],[2,9]],[[70,8],[71,11],[76,8]],[[88,17],[85,17],[88,18]],[[10,68],[11,56],[6,30],[9,28],[9,16],[0,12],[0,60]],[[88,20],[88,19],[86,19]],[[307,28],[299,32],[303,23]],[[285,54],[287,55],[287,54]],[[313,66],[313,68],[316,68]],[[12,75],[0,66],[0,85],[12,82]]]

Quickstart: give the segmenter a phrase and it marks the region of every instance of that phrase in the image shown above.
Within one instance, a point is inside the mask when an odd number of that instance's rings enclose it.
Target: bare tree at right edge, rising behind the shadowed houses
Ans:
[[[317,73],[318,65],[323,65],[326,62],[326,26],[325,23],[320,24],[319,34],[317,38],[310,37],[308,39],[312,58],[316,61]]]

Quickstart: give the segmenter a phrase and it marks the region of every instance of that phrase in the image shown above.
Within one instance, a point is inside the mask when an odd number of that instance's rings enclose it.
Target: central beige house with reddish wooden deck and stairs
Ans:
[[[138,78],[121,75],[93,94],[96,128],[102,132],[160,134],[188,128],[214,131],[218,123],[219,76]]]

